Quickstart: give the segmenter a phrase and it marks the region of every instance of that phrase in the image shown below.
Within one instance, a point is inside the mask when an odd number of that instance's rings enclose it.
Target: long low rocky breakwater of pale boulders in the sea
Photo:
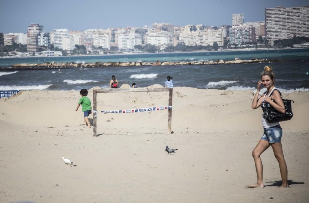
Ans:
[[[217,65],[217,64],[246,64],[246,63],[265,63],[279,62],[280,60],[268,60],[252,58],[251,60],[240,60],[235,58],[233,61],[179,61],[179,62],[95,62],[95,63],[21,63],[12,65],[10,68],[2,67],[1,70],[42,70],[42,69],[63,69],[63,68],[97,68],[97,67],[130,67],[130,66],[184,66],[184,65]]]

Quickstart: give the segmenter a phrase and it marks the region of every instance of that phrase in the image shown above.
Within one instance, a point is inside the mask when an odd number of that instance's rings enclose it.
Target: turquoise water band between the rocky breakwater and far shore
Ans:
[[[281,59],[292,60],[309,57],[309,49],[280,49],[280,50],[253,50],[253,51],[222,51],[222,52],[193,52],[193,53],[156,53],[156,54],[126,54],[126,55],[102,55],[102,56],[67,56],[67,57],[27,57],[27,58],[0,58],[0,67],[8,67],[18,63],[42,63],[46,62],[126,62],[126,61],[210,61],[210,60],[234,60],[235,57],[243,60]],[[40,60],[40,61],[38,61]]]

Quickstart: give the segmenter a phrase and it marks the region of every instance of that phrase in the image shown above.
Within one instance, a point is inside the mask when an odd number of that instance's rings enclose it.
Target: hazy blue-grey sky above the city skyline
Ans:
[[[27,32],[31,23],[44,32],[142,27],[155,22],[175,26],[231,25],[232,14],[245,22],[264,21],[265,8],[301,7],[308,0],[0,0],[0,32]]]

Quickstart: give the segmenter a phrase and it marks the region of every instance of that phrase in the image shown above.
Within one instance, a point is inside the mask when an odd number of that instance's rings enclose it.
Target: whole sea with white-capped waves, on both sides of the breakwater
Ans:
[[[112,75],[119,85],[135,82],[140,88],[153,84],[165,86],[167,76],[174,87],[220,90],[256,90],[260,73],[270,65],[276,75],[276,87],[283,93],[309,91],[309,49],[273,49],[252,51],[218,51],[191,53],[151,53],[100,56],[0,58],[0,67],[18,63],[43,62],[136,62],[136,61],[210,61],[274,59],[281,62],[195,65],[195,66],[134,66],[87,67],[53,70],[2,70],[0,90],[80,90],[108,88]]]

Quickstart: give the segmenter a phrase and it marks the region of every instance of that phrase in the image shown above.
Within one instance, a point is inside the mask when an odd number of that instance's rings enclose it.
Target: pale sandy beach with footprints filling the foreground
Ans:
[[[168,104],[167,92],[97,97],[97,110]],[[290,188],[277,188],[279,165],[269,148],[261,155],[264,189],[246,188],[256,183],[251,152],[263,134],[262,110],[251,109],[251,90],[175,87],[172,134],[162,110],[98,113],[97,137],[83,128],[81,108],[75,111],[79,91],[2,98],[0,203],[308,202],[309,92],[283,98],[295,102],[292,120],[280,123]],[[166,145],[178,150],[168,155]],[[61,157],[77,166],[66,167]]]

